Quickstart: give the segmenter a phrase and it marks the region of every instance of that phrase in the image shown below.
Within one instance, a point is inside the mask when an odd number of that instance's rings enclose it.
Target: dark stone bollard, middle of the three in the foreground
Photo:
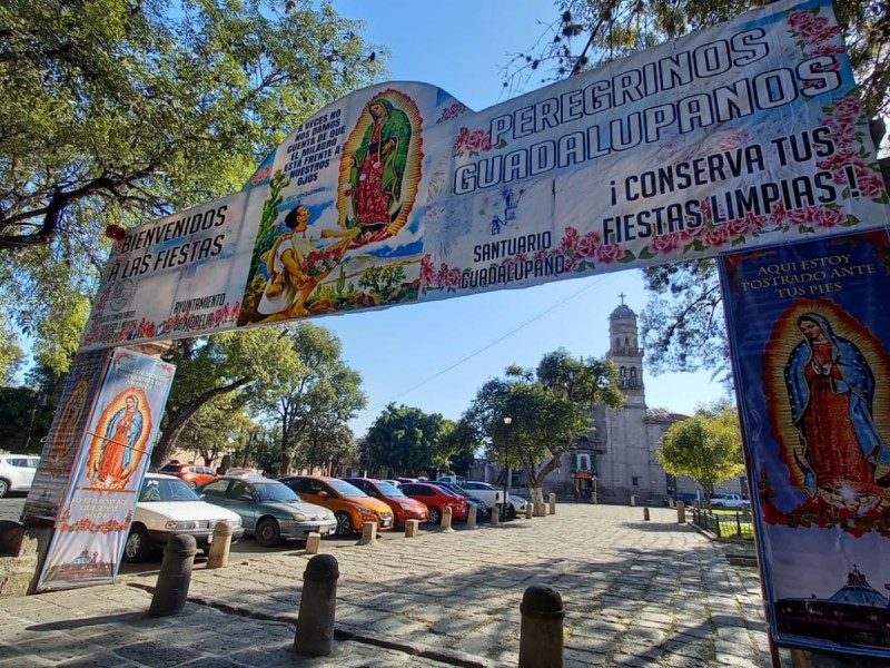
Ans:
[[[306,564],[294,654],[303,657],[326,657],[330,654],[339,577],[337,559],[333,554],[316,554]]]

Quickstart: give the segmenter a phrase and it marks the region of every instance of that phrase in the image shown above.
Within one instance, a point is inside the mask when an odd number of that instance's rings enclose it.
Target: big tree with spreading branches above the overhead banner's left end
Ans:
[[[327,1],[0,6],[0,305],[48,363],[77,347],[106,226],[239,189],[297,124],[379,78],[362,28]]]

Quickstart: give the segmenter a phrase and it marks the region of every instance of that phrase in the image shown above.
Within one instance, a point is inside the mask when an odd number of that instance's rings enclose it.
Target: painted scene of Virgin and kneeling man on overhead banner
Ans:
[[[314,117],[271,168],[239,325],[416,299],[416,254],[399,233],[421,183],[422,115],[387,88],[348,120]]]

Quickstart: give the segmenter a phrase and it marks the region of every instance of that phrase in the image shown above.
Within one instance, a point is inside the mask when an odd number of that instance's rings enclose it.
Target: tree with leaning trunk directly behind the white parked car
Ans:
[[[169,459],[182,430],[205,404],[248,390],[243,401],[255,400],[297,365],[290,341],[273,327],[180,338],[164,358],[176,364],[176,375],[151,453],[155,469]]]

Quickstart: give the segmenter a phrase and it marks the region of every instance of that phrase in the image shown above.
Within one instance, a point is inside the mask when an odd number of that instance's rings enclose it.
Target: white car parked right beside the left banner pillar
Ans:
[[[209,551],[218,522],[231,524],[233,542],[244,536],[238,514],[205,503],[179,478],[146,473],[123,546],[123,559],[146,561],[154,551],[166,548],[174,536],[191,536],[199,549]]]

